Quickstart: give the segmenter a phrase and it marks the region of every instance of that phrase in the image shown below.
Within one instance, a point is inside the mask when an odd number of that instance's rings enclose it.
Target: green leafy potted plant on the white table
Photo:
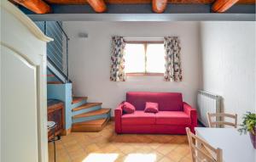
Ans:
[[[256,149],[256,114],[247,112],[247,114],[243,115],[242,119],[241,128],[238,131],[244,134],[249,131],[253,148]]]

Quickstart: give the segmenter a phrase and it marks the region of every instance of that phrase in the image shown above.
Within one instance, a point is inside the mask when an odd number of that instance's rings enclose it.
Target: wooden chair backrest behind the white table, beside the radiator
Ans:
[[[212,118],[215,118],[215,120],[212,120]],[[216,120],[216,118],[219,118],[220,120]],[[230,118],[233,120],[233,122],[226,121],[226,118]],[[230,115],[230,114],[224,114],[224,113],[215,113],[210,114],[207,113],[207,120],[209,127],[220,127],[220,126],[234,126],[236,128],[237,126],[237,115]]]

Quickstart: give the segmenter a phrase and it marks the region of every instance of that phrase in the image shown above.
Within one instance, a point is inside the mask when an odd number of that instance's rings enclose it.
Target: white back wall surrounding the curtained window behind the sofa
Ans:
[[[199,24],[195,22],[64,22],[69,42],[70,75],[75,95],[88,96],[114,109],[128,91],[183,92],[183,100],[195,106],[201,78]],[[79,32],[89,35],[79,38]],[[130,76],[125,82],[109,81],[111,36],[179,36],[183,65],[182,82],[166,82],[163,76]]]

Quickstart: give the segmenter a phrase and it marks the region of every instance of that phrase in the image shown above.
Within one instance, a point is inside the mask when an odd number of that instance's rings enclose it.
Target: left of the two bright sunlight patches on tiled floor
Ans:
[[[114,162],[119,154],[89,154],[82,162]]]

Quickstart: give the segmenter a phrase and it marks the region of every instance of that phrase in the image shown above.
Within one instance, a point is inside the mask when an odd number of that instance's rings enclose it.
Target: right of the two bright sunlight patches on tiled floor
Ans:
[[[125,158],[125,162],[155,162],[156,155],[155,154],[128,154]]]

